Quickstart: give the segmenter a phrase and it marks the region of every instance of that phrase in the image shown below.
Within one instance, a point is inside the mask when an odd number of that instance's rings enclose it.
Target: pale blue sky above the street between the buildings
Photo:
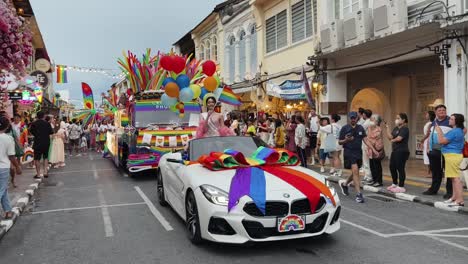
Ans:
[[[30,0],[50,58],[56,64],[118,69],[122,51],[141,56],[168,51],[221,0]],[[54,80],[55,82],[55,80]],[[82,101],[81,82],[95,100],[116,79],[98,73],[68,72],[72,100]],[[72,101],[79,104],[78,101]]]

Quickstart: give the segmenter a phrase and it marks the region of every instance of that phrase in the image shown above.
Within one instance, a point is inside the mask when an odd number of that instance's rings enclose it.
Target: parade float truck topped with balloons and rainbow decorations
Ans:
[[[108,132],[107,148],[130,176],[155,170],[163,154],[185,148],[195,137],[205,95],[240,104],[231,89],[222,87],[213,61],[172,52],[152,56],[148,49],[141,60],[129,51],[118,63],[129,88],[123,100],[109,104],[117,129]]]

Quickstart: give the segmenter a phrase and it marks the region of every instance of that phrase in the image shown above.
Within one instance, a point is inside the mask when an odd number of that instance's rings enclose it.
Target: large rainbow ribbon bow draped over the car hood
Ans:
[[[330,189],[320,180],[307,173],[288,168],[299,163],[297,156],[284,149],[259,147],[251,157],[245,157],[241,152],[227,149],[224,152],[212,152],[203,155],[198,162],[213,171],[232,170],[236,173],[229,188],[228,211],[244,196],[249,196],[265,214],[266,179],[265,172],[287,182],[307,197],[311,212],[314,213],[320,200],[320,194],[327,197],[336,206]]]

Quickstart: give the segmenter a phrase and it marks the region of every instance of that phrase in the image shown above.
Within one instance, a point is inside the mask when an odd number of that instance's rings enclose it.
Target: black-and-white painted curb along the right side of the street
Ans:
[[[325,176],[325,178],[334,183],[338,183],[339,180],[344,180],[340,177],[335,177],[335,176]],[[431,206],[440,210],[449,211],[449,212],[457,212],[459,214],[468,215],[468,208],[463,207],[463,206],[450,207],[444,204],[443,202],[434,201],[434,200],[430,200],[424,197],[415,196],[415,195],[411,195],[407,193],[392,193],[392,192],[385,190],[384,188],[376,188],[376,187],[367,186],[367,185],[364,185],[362,189],[368,192],[378,193],[378,194],[385,195],[391,198],[396,198],[396,199],[400,199],[400,200],[404,200],[408,202],[420,203],[420,204],[428,205],[428,206]]]

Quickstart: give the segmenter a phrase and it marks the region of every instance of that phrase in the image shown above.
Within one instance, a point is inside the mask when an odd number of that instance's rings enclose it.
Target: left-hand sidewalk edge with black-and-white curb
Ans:
[[[16,223],[18,217],[21,215],[21,212],[28,205],[29,201],[34,195],[34,192],[39,187],[39,184],[42,180],[33,179],[34,175],[36,175],[36,171],[34,169],[29,169],[27,168],[27,165],[23,165],[23,174],[17,175],[15,178],[16,185],[18,187],[13,188],[13,185],[10,184],[8,188],[8,194],[10,197],[11,206],[15,212],[15,216],[13,219],[8,220],[5,220],[0,216],[0,239]],[[0,208],[0,215],[3,216],[3,214],[4,212],[2,208]]]

